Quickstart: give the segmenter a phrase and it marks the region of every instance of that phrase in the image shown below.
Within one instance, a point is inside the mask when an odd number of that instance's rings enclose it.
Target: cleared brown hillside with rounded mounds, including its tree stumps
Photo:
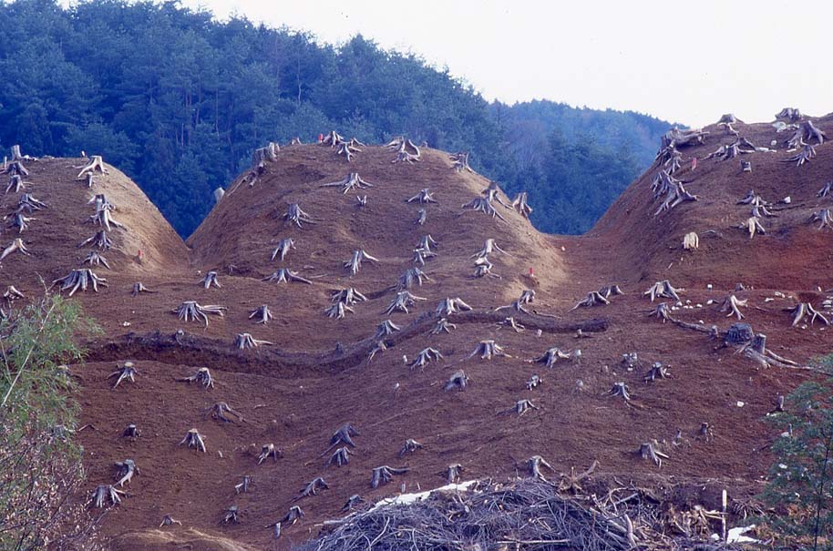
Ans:
[[[669,526],[719,507],[722,489],[743,510],[773,461],[766,414],[831,344],[833,149],[815,133],[831,123],[670,134],[597,227],[572,237],[535,230],[537,205],[463,154],[335,133],[260,149],[187,248],[161,221],[161,233],[133,230],[158,264],[121,273],[120,261],[109,287],[74,295],[105,329],[70,368],[95,426],[79,433],[88,485],[114,484],[116,462],[139,466],[104,535],[126,551],[289,549],[351,506],[511,483],[530,460],[580,495],[571,473],[596,464],[585,487],[640,488]],[[83,233],[87,195],[129,182],[110,168],[87,189],[74,164],[26,167],[52,202],[39,216]],[[62,195],[36,167],[66,180]],[[122,194],[113,216],[145,228],[146,199]],[[52,252],[32,235],[33,257],[3,261],[4,287],[34,292],[40,271],[80,260],[75,239]],[[126,263],[135,246],[108,254]],[[131,296],[139,280],[154,292]]]

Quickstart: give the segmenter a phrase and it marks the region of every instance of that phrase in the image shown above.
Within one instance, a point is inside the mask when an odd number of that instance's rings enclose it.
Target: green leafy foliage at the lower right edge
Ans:
[[[764,494],[773,526],[784,548],[833,549],[833,381],[802,383],[785,409],[770,417],[784,431]]]

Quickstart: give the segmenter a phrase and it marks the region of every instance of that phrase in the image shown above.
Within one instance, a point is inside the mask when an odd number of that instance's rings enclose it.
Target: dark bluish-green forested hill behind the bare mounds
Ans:
[[[0,1],[0,148],[101,154],[183,236],[252,149],[337,129],[471,151],[541,230],[581,232],[650,159],[667,123],[547,101],[488,104],[447,71],[356,36],[221,23],[175,2]]]

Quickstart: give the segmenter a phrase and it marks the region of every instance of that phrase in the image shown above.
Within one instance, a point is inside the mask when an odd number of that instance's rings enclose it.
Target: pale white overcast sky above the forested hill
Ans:
[[[691,126],[833,111],[833,2],[183,0],[219,19],[361,33],[447,66],[487,99],[631,109]]]

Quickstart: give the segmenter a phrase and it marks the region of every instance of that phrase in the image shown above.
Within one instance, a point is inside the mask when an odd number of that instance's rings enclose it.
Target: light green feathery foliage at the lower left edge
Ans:
[[[0,321],[0,548],[95,548],[93,523],[73,501],[82,489],[76,384],[66,363],[91,332],[76,301],[47,295]]]

